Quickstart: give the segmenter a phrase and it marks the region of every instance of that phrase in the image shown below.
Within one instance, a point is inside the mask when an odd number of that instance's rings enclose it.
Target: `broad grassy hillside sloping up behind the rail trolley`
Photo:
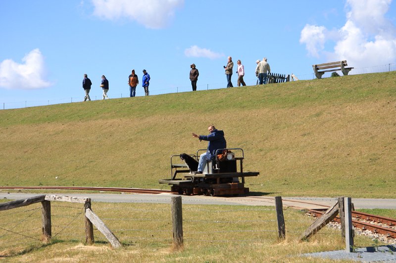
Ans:
[[[251,191],[396,197],[396,72],[1,110],[0,185],[167,189],[211,124]]]

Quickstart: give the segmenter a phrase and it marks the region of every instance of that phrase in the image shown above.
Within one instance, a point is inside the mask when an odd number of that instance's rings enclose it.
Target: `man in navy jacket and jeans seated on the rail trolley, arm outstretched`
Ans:
[[[208,141],[206,152],[199,157],[198,171],[193,172],[193,174],[202,174],[207,161],[212,160],[216,156],[216,150],[227,148],[223,131],[216,130],[213,125],[209,126],[207,130],[210,133],[209,135],[197,135],[193,132],[193,137]]]

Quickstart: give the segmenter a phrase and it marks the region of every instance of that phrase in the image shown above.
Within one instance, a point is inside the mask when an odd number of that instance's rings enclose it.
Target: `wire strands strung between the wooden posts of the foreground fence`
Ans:
[[[84,207],[76,203],[59,203],[51,205],[51,242],[85,244]],[[148,209],[145,203],[96,203],[92,210],[124,246],[140,244],[168,248],[174,240],[170,206],[151,204],[150,208],[152,209]],[[44,246],[41,209],[40,203],[36,203],[0,212],[0,257],[20,255]],[[287,238],[297,240],[315,220],[297,217],[300,212],[294,209],[286,208],[283,211]],[[202,242],[218,245],[266,245],[281,241],[275,208],[236,206],[230,209],[208,206],[202,209],[197,205],[184,205],[182,213],[185,246],[195,246]],[[337,234],[337,231],[324,231],[320,234]],[[94,239],[96,243],[108,244],[108,240],[96,227]]]

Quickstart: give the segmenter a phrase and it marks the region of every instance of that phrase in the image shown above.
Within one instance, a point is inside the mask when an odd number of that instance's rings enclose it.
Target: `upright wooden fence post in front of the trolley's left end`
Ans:
[[[182,197],[171,198],[172,225],[173,225],[173,246],[176,250],[183,247],[183,212]]]

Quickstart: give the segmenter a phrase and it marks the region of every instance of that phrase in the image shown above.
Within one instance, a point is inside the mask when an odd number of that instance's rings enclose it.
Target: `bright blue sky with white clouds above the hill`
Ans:
[[[242,60],[247,85],[263,57],[271,72],[301,79],[328,61],[396,63],[392,0],[0,0],[0,10],[1,104],[81,101],[85,73],[91,98],[101,75],[110,98],[126,97],[132,69],[140,81],[148,71],[152,95],[190,91],[192,63],[198,90],[225,88],[227,56]]]

